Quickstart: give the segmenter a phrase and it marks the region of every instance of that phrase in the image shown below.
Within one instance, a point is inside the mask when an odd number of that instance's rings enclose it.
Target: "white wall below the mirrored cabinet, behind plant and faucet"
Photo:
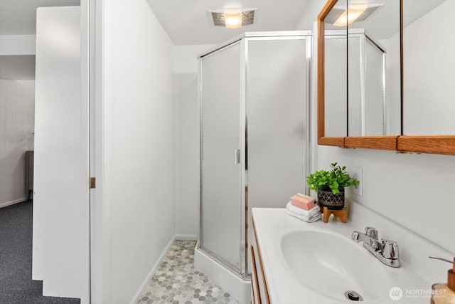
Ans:
[[[325,1],[310,1],[316,2],[320,11]],[[319,11],[303,16],[302,20],[316,21]],[[313,95],[312,105],[316,109],[316,95]],[[312,115],[316,122],[316,110]],[[312,134],[316,145],[315,123]],[[447,195],[455,180],[454,156],[327,146],[316,146],[316,153],[315,170],[328,169],[331,162],[346,165],[348,169],[363,169],[363,196],[355,196],[350,192],[352,189],[348,190],[348,196],[455,255],[452,219],[455,204]],[[355,204],[351,207],[355,208]],[[381,227],[376,228],[381,230]]]

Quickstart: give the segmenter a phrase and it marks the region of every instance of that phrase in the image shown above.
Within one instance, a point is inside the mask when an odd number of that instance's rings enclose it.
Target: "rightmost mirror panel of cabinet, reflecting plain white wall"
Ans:
[[[454,14],[454,0],[403,0],[404,135],[455,135]]]

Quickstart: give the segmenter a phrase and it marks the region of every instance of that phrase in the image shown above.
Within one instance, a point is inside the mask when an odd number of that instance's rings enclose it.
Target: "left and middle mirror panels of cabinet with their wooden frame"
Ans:
[[[397,3],[397,14],[390,19],[388,10]],[[399,4],[399,0],[328,0],[319,14],[319,145],[396,149],[401,133]],[[394,51],[388,51],[387,39],[394,35],[398,49],[392,45]],[[343,57],[344,63],[332,62]],[[333,74],[331,66],[338,72]],[[332,77],[346,89],[333,85]]]

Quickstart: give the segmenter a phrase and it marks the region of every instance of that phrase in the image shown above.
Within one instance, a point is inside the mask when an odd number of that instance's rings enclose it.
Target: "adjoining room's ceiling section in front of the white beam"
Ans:
[[[0,35],[34,35],[36,8],[73,5],[80,0],[0,0]]]

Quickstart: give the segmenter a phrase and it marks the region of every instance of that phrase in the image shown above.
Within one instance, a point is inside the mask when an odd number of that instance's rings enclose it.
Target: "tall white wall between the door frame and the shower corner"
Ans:
[[[174,235],[173,43],[145,0],[105,1],[103,303],[134,300]]]

